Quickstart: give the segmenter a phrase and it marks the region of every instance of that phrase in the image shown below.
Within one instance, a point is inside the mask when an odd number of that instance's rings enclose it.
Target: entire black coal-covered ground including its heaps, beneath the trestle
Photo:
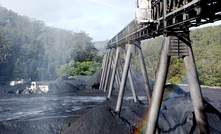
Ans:
[[[139,102],[133,102],[127,81],[121,112],[115,107],[119,88],[110,99],[96,89],[100,72],[75,79],[60,77],[46,94],[15,94],[0,86],[0,134],[138,134],[145,129],[148,102],[142,76],[132,70]],[[153,82],[150,82],[151,90]],[[21,85],[19,86],[21,87]],[[210,133],[221,133],[221,89],[202,87]],[[158,120],[161,134],[197,134],[189,89],[167,84]]]

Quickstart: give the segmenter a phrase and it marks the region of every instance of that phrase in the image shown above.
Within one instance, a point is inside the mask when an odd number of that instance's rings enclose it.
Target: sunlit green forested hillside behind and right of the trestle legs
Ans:
[[[142,42],[148,76],[155,79],[163,37]],[[200,83],[221,86],[221,26],[191,30],[190,40]],[[133,58],[132,67],[140,70],[139,61]],[[168,81],[187,83],[182,57],[173,56],[167,76]]]

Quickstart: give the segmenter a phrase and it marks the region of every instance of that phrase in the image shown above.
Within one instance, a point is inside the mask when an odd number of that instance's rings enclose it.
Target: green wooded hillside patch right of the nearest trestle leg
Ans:
[[[190,37],[201,84],[221,86],[221,26],[193,30]]]

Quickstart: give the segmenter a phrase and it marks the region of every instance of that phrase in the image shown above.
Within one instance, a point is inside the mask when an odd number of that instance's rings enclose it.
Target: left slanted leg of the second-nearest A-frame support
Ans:
[[[120,83],[120,91],[119,91],[119,95],[118,95],[118,99],[117,99],[117,106],[116,106],[116,109],[115,109],[115,111],[118,112],[118,113],[120,113],[120,110],[121,110],[123,96],[124,96],[124,89],[125,89],[125,85],[126,85],[128,70],[129,70],[129,67],[130,67],[131,47],[132,47],[132,44],[129,44],[127,56],[126,56],[126,59],[125,59],[123,75],[122,75],[122,79],[121,79],[121,83]]]

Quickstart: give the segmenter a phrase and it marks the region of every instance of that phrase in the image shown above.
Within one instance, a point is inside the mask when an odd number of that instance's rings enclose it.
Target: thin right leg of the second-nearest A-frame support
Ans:
[[[138,57],[139,57],[139,61],[140,61],[140,68],[141,68],[141,73],[142,73],[143,80],[144,80],[144,86],[145,86],[145,90],[146,90],[146,94],[147,94],[148,103],[150,104],[151,103],[150,84],[149,84],[149,79],[147,76],[147,70],[146,70],[146,66],[145,66],[140,43],[138,46]]]

